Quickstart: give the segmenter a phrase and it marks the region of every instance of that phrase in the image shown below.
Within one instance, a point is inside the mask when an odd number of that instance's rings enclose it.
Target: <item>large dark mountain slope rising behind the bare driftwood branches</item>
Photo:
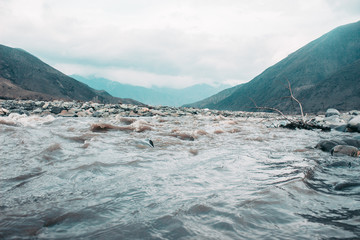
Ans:
[[[187,106],[254,111],[258,106],[291,113],[298,106],[290,99],[287,80],[305,112],[336,107],[360,109],[360,21],[340,26],[269,67],[248,83]],[[231,93],[231,94],[229,94]]]

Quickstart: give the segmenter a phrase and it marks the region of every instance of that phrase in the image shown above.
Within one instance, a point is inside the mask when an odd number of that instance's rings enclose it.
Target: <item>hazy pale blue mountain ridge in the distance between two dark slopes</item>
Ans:
[[[95,76],[83,77],[72,75],[71,77],[92,88],[105,90],[113,96],[132,98],[149,105],[181,106],[185,103],[201,100],[229,87],[228,85],[210,86],[207,84],[197,84],[183,89],[145,88]]]

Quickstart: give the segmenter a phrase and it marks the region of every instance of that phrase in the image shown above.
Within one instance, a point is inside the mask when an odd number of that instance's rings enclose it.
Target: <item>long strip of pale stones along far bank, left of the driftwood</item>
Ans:
[[[168,107],[168,106],[137,106],[131,104],[100,104],[93,102],[64,101],[31,101],[31,100],[0,100],[0,116],[11,113],[26,115],[54,115],[60,117],[97,117],[104,118],[113,115],[123,117],[181,117],[191,115],[207,115],[224,117],[271,117],[273,113],[250,113],[218,111],[209,109]]]

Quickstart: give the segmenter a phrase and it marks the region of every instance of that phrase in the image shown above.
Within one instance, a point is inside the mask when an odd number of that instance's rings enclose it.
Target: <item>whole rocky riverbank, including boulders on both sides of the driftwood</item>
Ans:
[[[182,117],[191,115],[223,116],[223,117],[260,117],[281,119],[276,113],[219,111],[168,106],[137,106],[131,104],[100,104],[94,102],[64,101],[32,101],[32,100],[0,100],[0,116],[10,114],[54,115],[58,117]],[[296,119],[298,116],[289,116]],[[360,111],[340,113],[336,109],[328,109],[324,115],[306,116],[306,121],[342,132],[360,132]],[[281,126],[286,122],[274,122]]]

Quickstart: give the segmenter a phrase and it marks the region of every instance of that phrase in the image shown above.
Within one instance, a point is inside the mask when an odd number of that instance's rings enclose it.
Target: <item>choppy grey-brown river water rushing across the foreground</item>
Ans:
[[[0,238],[360,238],[359,159],[313,148],[359,134],[274,121],[2,117]]]

